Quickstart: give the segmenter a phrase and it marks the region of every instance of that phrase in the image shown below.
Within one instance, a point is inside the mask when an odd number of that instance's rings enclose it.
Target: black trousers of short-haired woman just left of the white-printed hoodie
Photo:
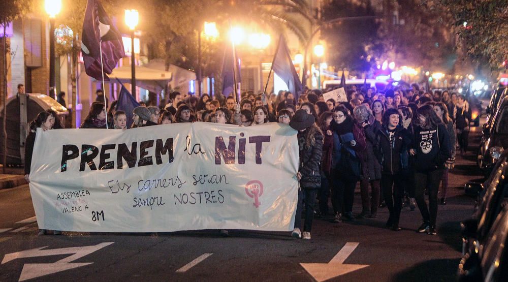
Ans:
[[[390,211],[390,218],[393,225],[399,225],[400,210],[402,209],[402,197],[404,196],[404,185],[401,174],[383,174],[381,186],[386,206]]]

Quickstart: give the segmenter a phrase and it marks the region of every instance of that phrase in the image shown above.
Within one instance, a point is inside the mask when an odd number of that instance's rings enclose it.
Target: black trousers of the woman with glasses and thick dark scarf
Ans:
[[[332,176],[332,206],[335,213],[353,211],[356,182]]]

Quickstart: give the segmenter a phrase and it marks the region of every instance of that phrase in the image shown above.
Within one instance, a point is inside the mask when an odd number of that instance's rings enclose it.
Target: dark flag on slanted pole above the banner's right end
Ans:
[[[298,96],[303,92],[303,85],[296,72],[295,65],[289,53],[288,45],[285,43],[282,35],[279,38],[279,44],[272,62],[273,73],[277,74],[286,85],[296,100]]]

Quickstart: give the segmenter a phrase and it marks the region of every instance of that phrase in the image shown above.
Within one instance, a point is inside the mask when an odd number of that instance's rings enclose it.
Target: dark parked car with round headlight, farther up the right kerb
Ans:
[[[478,166],[488,174],[508,147],[508,97],[504,98],[490,122],[485,123],[477,154]]]

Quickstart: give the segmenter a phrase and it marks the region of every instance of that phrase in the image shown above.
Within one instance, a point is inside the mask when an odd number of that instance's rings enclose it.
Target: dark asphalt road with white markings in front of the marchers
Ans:
[[[473,147],[478,133],[471,132],[470,138]],[[439,206],[437,236],[415,232],[421,224],[418,208],[402,210],[400,232],[384,228],[386,208],[374,220],[332,224],[317,219],[311,240],[294,239],[289,232],[242,230],[230,231],[227,238],[218,230],[38,236],[28,185],[2,190],[0,281],[311,281],[327,277],[451,281],[461,258],[459,223],[472,213],[474,204],[473,198],[464,195],[463,186],[482,178],[474,161],[472,152],[465,158],[458,156],[447,205]],[[355,213],[361,211],[360,203],[357,194]]]

